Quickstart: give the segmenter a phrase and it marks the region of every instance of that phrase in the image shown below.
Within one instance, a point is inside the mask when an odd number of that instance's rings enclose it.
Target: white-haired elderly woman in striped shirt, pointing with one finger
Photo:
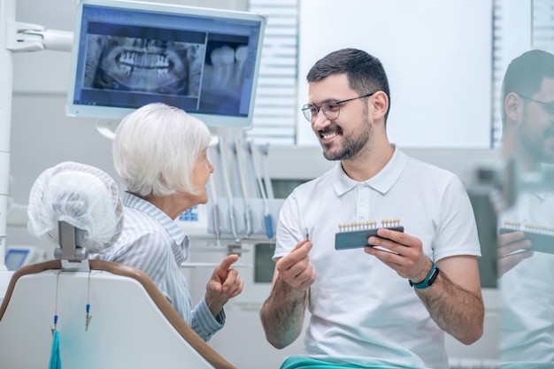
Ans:
[[[210,130],[185,111],[148,104],[119,124],[113,163],[127,185],[124,226],[101,258],[141,269],[204,341],[225,323],[223,306],[242,292],[230,255],[212,273],[204,299],[193,309],[180,265],[187,258],[186,234],[173,221],[196,204],[206,204],[213,165],[206,156]]]

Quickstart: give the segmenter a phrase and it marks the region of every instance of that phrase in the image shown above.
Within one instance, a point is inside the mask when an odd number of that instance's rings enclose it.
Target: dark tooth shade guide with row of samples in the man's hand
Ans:
[[[377,227],[376,221],[348,223],[339,225],[339,232],[335,234],[335,250],[348,250],[373,246],[367,243],[367,238],[375,235],[381,228],[404,232],[399,219],[383,219],[381,227]],[[381,248],[380,248],[381,249]]]

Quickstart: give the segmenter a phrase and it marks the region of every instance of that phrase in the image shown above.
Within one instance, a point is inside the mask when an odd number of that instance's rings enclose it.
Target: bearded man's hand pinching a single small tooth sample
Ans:
[[[281,280],[299,291],[307,291],[315,281],[315,271],[308,257],[310,250],[312,241],[302,240],[275,265]]]

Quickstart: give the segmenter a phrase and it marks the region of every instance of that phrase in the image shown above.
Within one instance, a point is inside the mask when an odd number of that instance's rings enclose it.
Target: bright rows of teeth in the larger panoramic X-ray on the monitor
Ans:
[[[119,58],[119,68],[123,75],[149,74],[158,75],[159,79],[167,77],[169,73],[169,58],[162,54],[148,54],[127,51]]]

